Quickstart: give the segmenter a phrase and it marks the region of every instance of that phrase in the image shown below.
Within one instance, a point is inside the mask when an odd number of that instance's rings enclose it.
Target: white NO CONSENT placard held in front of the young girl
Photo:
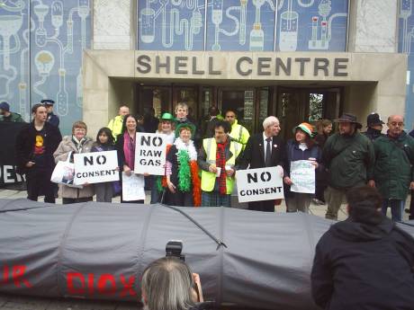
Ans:
[[[101,183],[120,180],[116,151],[75,154],[74,184]]]

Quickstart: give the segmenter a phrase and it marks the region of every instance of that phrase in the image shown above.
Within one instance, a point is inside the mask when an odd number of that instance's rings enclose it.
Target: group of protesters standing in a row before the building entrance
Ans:
[[[298,124],[293,128],[293,139],[284,142],[275,116],[263,121],[262,132],[250,136],[238,123],[236,111],[225,111],[221,116],[213,106],[202,133],[200,126],[189,120],[184,102],[175,106],[175,115],[163,112],[159,120],[153,109],[136,117],[127,106],[121,106],[119,115],[93,140],[87,136],[83,121],[76,121],[72,134],[62,138],[53,103],[45,100],[35,104],[33,121],[16,139],[18,166],[26,175],[28,198],[33,200],[41,194],[45,201],[55,201],[55,186],[49,182],[53,168],[58,161],[73,162],[77,153],[116,150],[119,172],[130,175],[134,172],[137,132],[164,134],[167,140],[165,175],[145,173],[151,184],[151,203],[230,207],[236,172],[265,167],[277,167],[283,178],[287,212],[308,212],[313,200],[328,205],[326,217],[331,219],[338,218],[347,190],[368,184],[383,195],[384,214],[390,207],[392,218],[401,221],[405,201],[414,190],[414,131],[410,136],[403,130],[404,120],[399,115],[388,118],[386,134],[377,113],[367,117],[367,130],[362,133],[356,117],[344,113],[338,120],[320,120],[316,129],[308,122]],[[4,118],[14,115],[6,102],[0,104],[0,111]],[[338,123],[338,132],[330,135],[333,122]],[[315,169],[314,194],[291,190],[291,164],[298,160],[310,161]],[[82,188],[59,184],[64,204],[92,200],[94,194],[97,201],[112,201],[120,191],[121,181],[84,184]],[[144,200],[126,201],[121,193],[121,202]],[[412,205],[410,217],[414,217]],[[274,212],[275,200],[249,202],[248,208]]]

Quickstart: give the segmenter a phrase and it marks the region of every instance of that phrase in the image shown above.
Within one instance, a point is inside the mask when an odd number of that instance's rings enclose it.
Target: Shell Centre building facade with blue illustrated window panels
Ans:
[[[0,2],[0,100],[31,120],[55,100],[63,133],[92,137],[118,112],[186,102],[197,125],[268,115],[284,137],[342,112],[414,122],[414,0],[8,0]]]

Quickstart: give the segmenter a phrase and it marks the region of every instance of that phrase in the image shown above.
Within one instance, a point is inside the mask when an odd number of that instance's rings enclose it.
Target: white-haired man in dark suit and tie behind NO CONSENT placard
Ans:
[[[263,121],[264,131],[249,137],[244,151],[242,166],[247,169],[278,166],[281,175],[284,162],[284,142],[278,137],[281,130],[279,120],[269,116]],[[249,210],[275,212],[275,200],[253,201],[248,203]]]

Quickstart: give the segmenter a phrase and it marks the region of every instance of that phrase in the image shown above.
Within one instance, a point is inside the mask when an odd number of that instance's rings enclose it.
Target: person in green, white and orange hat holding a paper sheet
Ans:
[[[286,199],[287,212],[302,211],[309,212],[309,206],[313,194],[293,192],[291,185],[293,184],[290,173],[291,164],[298,160],[308,160],[315,167],[315,170],[319,170],[321,165],[322,152],[320,147],[312,139],[313,127],[309,123],[302,123],[293,128],[294,139],[289,140],[286,143],[286,155],[284,165],[284,197]]]

